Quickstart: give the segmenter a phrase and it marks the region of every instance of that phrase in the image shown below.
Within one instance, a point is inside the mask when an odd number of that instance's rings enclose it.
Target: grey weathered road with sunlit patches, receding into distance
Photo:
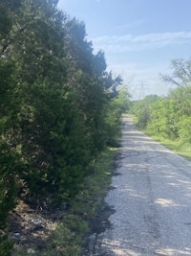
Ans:
[[[91,255],[191,255],[191,162],[138,131],[123,116],[117,175],[106,197],[111,227]]]

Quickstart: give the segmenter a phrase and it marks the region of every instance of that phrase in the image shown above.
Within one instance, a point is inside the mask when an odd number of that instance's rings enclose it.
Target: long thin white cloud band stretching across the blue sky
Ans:
[[[105,35],[93,38],[93,45],[96,50],[102,49],[110,53],[144,51],[175,44],[191,44],[191,32]]]

